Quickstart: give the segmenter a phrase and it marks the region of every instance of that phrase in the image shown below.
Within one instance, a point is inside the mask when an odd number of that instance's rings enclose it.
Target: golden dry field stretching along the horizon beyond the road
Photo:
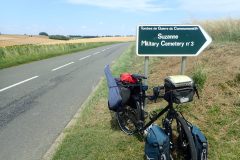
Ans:
[[[87,38],[73,40],[53,40],[46,36],[26,36],[26,35],[0,35],[0,47],[36,44],[36,45],[51,45],[65,43],[88,43],[88,42],[127,42],[134,41],[135,37],[102,37],[102,38]]]

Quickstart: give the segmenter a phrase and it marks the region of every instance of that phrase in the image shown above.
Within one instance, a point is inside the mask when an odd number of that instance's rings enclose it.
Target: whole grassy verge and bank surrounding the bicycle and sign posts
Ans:
[[[195,97],[180,111],[207,136],[209,159],[237,160],[240,157],[239,49],[238,43],[214,43],[203,54],[189,58],[187,62],[187,75],[193,76],[194,68],[200,65],[207,79],[200,92],[201,99]],[[166,76],[180,72],[180,58],[150,60],[149,86],[162,84]],[[112,66],[113,73],[116,76],[122,72],[142,73],[143,61],[135,56],[132,46]],[[164,106],[164,102],[149,103],[147,109],[159,110],[159,106]],[[143,159],[144,140],[121,132],[113,113],[107,108],[105,79],[84,108],[76,124],[64,131],[66,138],[53,160]],[[161,124],[161,120],[158,123]]]

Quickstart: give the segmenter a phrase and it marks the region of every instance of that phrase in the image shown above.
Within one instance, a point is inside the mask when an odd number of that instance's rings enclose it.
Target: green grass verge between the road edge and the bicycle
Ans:
[[[129,72],[137,61],[139,57],[135,56],[135,48],[131,46],[113,65],[113,74]],[[106,80],[103,80],[86,106],[82,106],[85,109],[75,126],[65,131],[66,138],[54,160],[142,158],[142,143],[137,143],[136,137],[126,136],[119,130],[106,104],[107,87]]]

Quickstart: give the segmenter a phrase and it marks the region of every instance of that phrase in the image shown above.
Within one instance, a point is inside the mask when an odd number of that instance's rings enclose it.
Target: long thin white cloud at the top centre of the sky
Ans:
[[[109,9],[122,9],[128,11],[147,11],[160,12],[171,10],[168,5],[163,2],[165,0],[67,0],[72,4],[82,4],[90,6],[98,6]],[[160,4],[161,3],[161,4]]]

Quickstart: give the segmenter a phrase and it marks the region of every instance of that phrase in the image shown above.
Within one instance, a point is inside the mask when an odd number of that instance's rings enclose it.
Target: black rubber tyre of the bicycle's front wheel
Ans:
[[[196,151],[195,143],[192,137],[192,133],[187,125],[187,122],[184,120],[184,118],[179,116],[179,114],[177,114],[176,116],[176,121],[180,123],[183,129],[183,132],[186,135],[186,138],[189,144],[190,153],[191,153],[191,160],[197,160],[197,151]]]

